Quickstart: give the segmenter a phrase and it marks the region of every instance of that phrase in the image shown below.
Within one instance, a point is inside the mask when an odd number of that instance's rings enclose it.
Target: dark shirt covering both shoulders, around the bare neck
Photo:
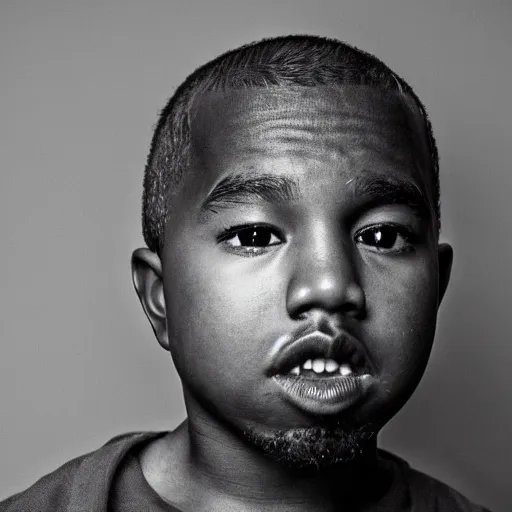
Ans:
[[[26,491],[0,503],[0,512],[180,512],[148,484],[138,454],[165,433],[136,433],[64,464]],[[372,512],[489,512],[388,452],[393,483]]]

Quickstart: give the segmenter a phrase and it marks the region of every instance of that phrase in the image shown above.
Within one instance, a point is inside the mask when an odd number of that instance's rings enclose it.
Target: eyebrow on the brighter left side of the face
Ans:
[[[217,209],[255,200],[268,202],[292,201],[298,197],[299,186],[288,176],[273,174],[233,174],[221,180],[203,201],[200,219]]]

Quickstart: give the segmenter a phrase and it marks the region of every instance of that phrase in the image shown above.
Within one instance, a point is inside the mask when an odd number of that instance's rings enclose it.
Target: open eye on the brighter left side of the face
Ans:
[[[273,227],[265,225],[237,226],[218,237],[226,250],[242,256],[257,256],[280,245],[284,237]]]

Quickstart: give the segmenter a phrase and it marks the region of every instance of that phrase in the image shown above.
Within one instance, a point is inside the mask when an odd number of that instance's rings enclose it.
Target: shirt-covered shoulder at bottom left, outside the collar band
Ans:
[[[105,501],[111,478],[126,452],[158,435],[161,434],[134,432],[116,436],[98,450],[66,462],[25,491],[0,502],[0,512],[78,511],[78,502]],[[94,509],[100,510],[101,506]]]

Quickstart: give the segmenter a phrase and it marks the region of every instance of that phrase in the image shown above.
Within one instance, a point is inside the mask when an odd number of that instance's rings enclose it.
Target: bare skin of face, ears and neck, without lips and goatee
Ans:
[[[188,412],[147,448],[144,474],[182,510],[370,506],[389,483],[374,438],[355,464],[294,472],[244,432],[378,431],[416,388],[452,261],[438,244],[421,118],[407,98],[374,88],[279,87],[208,93],[191,127],[161,254],[132,258]],[[286,194],[211,197],[233,177],[293,183]],[[382,194],[382,183],[416,191],[421,204]],[[244,246],[254,229],[256,247]],[[280,339],[319,325],[356,339],[374,379],[335,417],[294,406],[268,373]]]

